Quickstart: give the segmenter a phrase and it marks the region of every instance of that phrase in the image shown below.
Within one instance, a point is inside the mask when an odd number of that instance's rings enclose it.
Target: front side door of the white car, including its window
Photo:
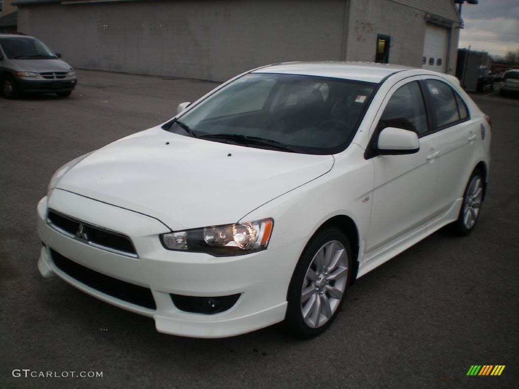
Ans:
[[[375,185],[366,255],[439,214],[436,198],[440,135],[430,133],[430,120],[417,79],[395,85],[386,96],[383,113],[377,118],[376,131],[398,127],[421,137],[420,149],[415,154],[372,158]]]

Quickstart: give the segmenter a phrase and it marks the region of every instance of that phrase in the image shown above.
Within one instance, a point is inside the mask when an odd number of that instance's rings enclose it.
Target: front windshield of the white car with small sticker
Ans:
[[[216,142],[335,154],[351,142],[375,87],[336,78],[250,73],[162,128]]]

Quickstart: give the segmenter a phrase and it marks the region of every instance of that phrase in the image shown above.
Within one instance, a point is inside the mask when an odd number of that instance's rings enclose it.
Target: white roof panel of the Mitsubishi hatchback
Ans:
[[[420,70],[412,66],[372,63],[372,62],[284,62],[258,68],[252,73],[298,74],[305,76],[344,78],[366,82],[381,82],[394,73]]]

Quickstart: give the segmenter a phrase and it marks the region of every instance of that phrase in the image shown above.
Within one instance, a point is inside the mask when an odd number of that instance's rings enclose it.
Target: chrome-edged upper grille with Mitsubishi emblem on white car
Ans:
[[[67,237],[116,254],[137,258],[133,244],[120,232],[95,226],[72,216],[49,209],[47,224]]]

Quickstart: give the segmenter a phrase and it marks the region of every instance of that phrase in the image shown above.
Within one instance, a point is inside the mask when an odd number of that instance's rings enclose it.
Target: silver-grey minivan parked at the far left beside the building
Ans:
[[[20,34],[0,34],[0,86],[7,99],[23,92],[69,96],[76,72],[42,41]]]

